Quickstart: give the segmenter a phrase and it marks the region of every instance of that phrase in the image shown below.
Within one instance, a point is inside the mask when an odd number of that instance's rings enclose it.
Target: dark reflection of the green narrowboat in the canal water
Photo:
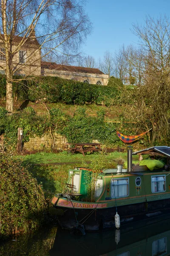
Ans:
[[[167,216],[169,218],[169,216]],[[58,229],[50,256],[161,256],[170,254],[170,219],[153,218],[120,230],[71,236]]]

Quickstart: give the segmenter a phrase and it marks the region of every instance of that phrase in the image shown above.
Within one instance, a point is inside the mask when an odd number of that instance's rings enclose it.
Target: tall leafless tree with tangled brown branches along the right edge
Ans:
[[[152,128],[151,144],[169,136],[170,109],[170,22],[166,15],[146,17],[144,26],[133,24],[142,47],[144,86],[135,91],[133,116]]]

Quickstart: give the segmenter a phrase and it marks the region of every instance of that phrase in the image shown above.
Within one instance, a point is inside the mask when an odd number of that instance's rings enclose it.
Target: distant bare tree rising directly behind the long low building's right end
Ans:
[[[114,58],[113,53],[106,51],[104,53],[103,59],[99,59],[99,69],[109,75],[113,76]]]

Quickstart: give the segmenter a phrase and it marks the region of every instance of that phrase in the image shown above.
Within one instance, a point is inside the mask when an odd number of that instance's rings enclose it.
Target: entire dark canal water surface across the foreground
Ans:
[[[13,237],[0,244],[0,256],[167,256],[170,255],[170,216],[105,230],[72,235],[59,227]]]

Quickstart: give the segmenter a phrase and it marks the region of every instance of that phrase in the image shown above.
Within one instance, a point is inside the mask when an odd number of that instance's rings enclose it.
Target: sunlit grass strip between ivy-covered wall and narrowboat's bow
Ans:
[[[29,165],[29,170],[42,185],[46,198],[51,198],[55,192],[62,192],[68,180],[68,170],[74,167],[83,166],[105,166],[105,168],[115,168],[117,164],[122,164],[127,160],[127,152],[119,153],[96,153],[68,154],[64,153],[37,153],[22,156],[24,165]],[[133,156],[137,160],[138,156]]]

